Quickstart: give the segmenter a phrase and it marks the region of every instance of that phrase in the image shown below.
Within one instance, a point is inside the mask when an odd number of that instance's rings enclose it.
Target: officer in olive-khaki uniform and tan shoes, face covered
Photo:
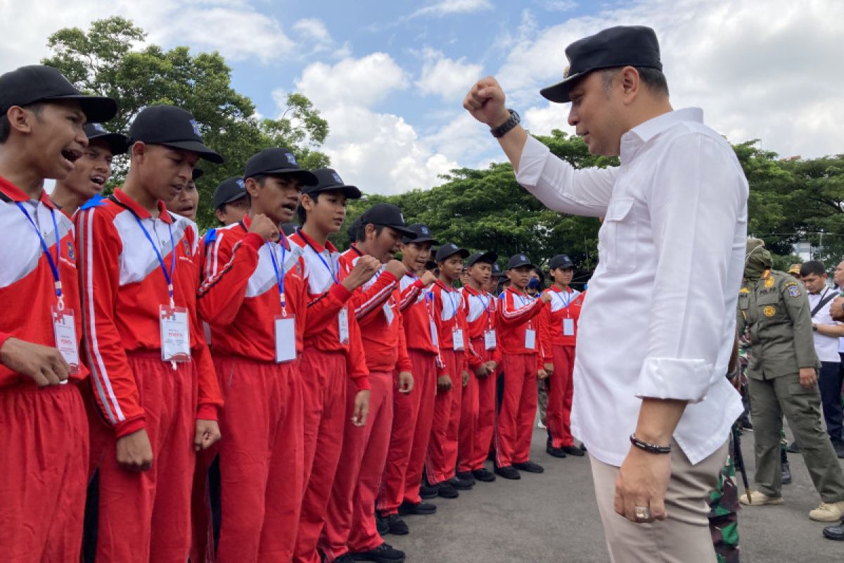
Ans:
[[[803,285],[771,270],[771,253],[750,239],[738,296],[738,333],[750,332],[750,414],[755,430],[758,490],[743,504],[782,504],[780,430],[785,414],[803,452],[821,505],[809,512],[820,522],[844,514],[844,472],[820,425],[820,392],[809,300]]]

